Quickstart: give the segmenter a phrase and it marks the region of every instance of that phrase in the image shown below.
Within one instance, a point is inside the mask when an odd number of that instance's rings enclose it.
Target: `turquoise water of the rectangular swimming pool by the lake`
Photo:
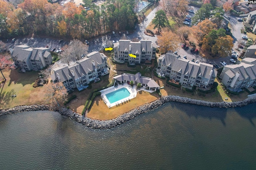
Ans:
[[[125,87],[106,94],[106,97],[108,98],[108,101],[110,103],[114,103],[116,101],[122,100],[129,96],[130,96],[130,92]]]

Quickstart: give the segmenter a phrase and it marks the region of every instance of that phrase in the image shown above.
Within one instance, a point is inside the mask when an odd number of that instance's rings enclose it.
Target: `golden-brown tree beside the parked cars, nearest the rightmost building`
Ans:
[[[216,40],[216,43],[212,46],[212,53],[219,55],[220,57],[226,57],[230,55],[230,51],[233,48],[233,38],[230,36],[220,37]]]

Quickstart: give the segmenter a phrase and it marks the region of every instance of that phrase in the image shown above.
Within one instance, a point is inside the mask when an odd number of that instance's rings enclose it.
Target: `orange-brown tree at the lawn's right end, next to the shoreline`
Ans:
[[[58,104],[63,104],[67,100],[68,92],[63,83],[58,82],[49,85],[46,95],[52,99],[52,106],[56,107]]]

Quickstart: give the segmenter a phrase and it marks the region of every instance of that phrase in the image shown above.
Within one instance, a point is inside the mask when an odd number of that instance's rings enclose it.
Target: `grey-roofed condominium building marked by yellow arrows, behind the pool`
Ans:
[[[130,57],[129,54],[136,55],[136,57]],[[139,42],[120,40],[114,43],[114,56],[116,60],[130,64],[150,62],[151,59],[156,58],[156,43],[151,40],[140,40]]]

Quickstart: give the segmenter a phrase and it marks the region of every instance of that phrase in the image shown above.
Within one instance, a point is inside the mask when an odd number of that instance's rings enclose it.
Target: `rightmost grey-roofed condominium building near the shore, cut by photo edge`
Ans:
[[[231,89],[249,88],[256,86],[256,59],[244,58],[242,62],[226,65],[221,74],[221,82]]]

